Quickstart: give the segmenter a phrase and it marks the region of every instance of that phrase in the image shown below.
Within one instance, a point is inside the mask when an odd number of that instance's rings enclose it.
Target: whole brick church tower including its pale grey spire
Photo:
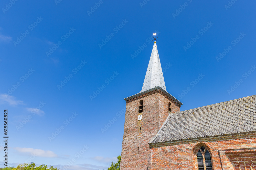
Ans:
[[[127,97],[120,170],[152,170],[149,142],[182,103],[167,93],[154,42],[140,93]]]

